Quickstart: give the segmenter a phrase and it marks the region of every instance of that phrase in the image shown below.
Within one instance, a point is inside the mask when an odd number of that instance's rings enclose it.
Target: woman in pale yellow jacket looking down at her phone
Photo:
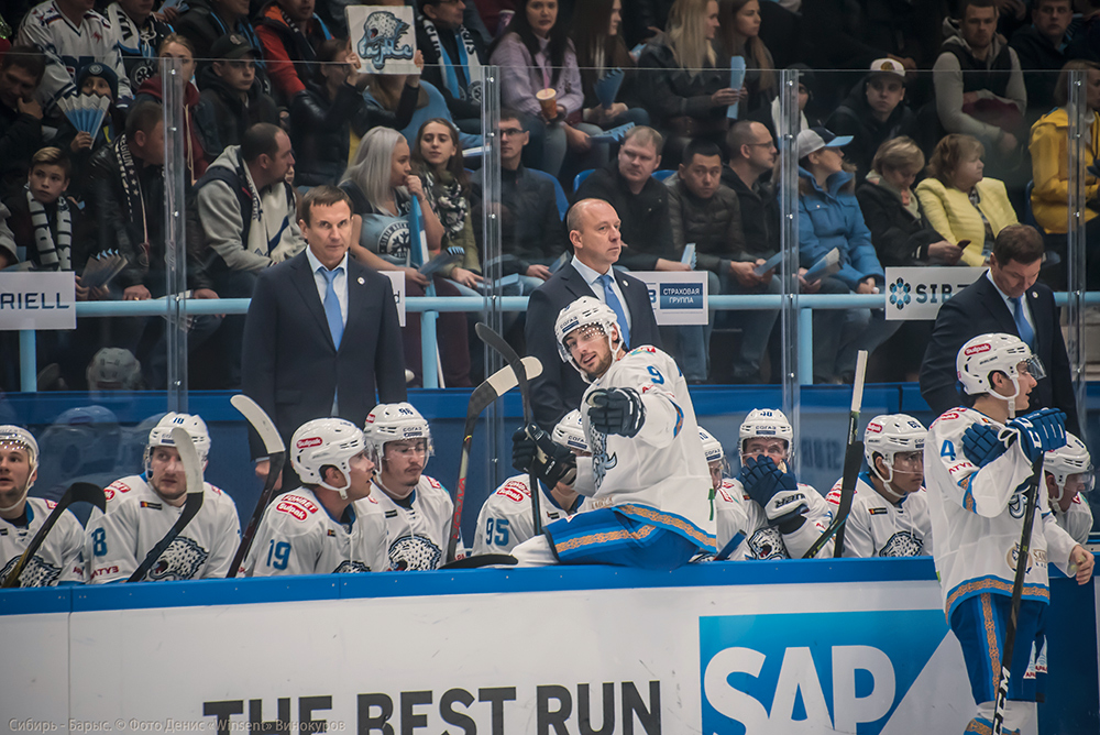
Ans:
[[[936,232],[956,245],[969,240],[959,265],[985,265],[997,233],[1016,223],[1004,184],[982,178],[985,152],[971,135],[945,135],[928,162],[932,175],[916,187],[916,198]]]

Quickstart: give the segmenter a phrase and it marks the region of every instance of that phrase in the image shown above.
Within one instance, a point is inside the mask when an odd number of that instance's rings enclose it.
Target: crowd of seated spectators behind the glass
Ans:
[[[780,72],[798,68],[790,284],[883,293],[886,267],[982,266],[998,233],[1025,222],[1043,234],[1040,278],[1064,288],[1076,72],[1086,275],[1100,284],[1100,0],[377,0],[413,6],[399,30],[418,50],[408,75],[364,72],[349,4],[6,3],[0,268],[72,271],[79,300],[166,295],[161,59],[173,59],[190,298],[252,296],[265,268],[306,249],[298,207],[323,185],[353,205],[351,256],[404,274],[409,296],[532,294],[578,252],[584,218],[566,227],[566,209],[586,199],[617,215],[616,271],[696,270],[711,294],[780,294],[782,274],[762,266],[780,251]],[[491,64],[503,110],[486,131]],[[486,133],[501,153],[492,197],[479,173]],[[483,226],[494,213],[498,251]],[[447,262],[427,274],[420,232],[427,256]],[[811,273],[834,251],[837,268]],[[113,253],[121,271],[85,278]],[[776,382],[778,314],[712,311],[652,341],[692,384]],[[484,377],[476,317],[440,317],[449,387]],[[878,350],[871,379],[912,380],[931,323],[901,323],[882,309],[815,312],[814,381],[850,381],[862,349]],[[505,327],[528,352],[525,315]],[[191,320],[190,387],[241,385],[243,330],[241,315]],[[0,388],[16,390],[13,334],[0,344]],[[116,387],[164,388],[165,345],[160,317],[80,319],[40,333],[40,388],[94,388],[105,361]],[[418,319],[403,347],[410,385],[422,384]]]

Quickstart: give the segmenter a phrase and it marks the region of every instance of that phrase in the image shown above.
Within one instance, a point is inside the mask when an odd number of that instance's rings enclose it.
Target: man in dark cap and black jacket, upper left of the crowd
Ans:
[[[221,36],[210,46],[213,63],[199,73],[201,99],[213,110],[217,130],[208,131],[207,152],[219,156],[230,145],[240,145],[244,131],[257,122],[278,124],[275,100],[256,79],[260,52],[239,33]]]

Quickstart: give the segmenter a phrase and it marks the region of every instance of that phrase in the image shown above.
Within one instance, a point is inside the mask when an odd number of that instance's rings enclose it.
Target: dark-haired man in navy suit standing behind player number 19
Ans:
[[[242,387],[283,441],[315,418],[355,426],[377,403],[406,399],[405,358],[389,278],[348,256],[351,200],[318,186],[298,224],[309,248],[264,271],[244,322]],[[252,453],[263,454],[252,436]],[[266,460],[256,474],[267,474]]]

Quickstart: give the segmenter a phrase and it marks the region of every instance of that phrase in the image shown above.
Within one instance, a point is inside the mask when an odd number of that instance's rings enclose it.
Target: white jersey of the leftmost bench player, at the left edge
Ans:
[[[42,524],[57,507],[42,497],[26,498],[26,526],[20,527],[0,518],[0,581],[19,563]],[[54,586],[58,583],[84,582],[84,528],[76,516],[66,511],[57,518],[34,557],[23,567],[19,586]]]

